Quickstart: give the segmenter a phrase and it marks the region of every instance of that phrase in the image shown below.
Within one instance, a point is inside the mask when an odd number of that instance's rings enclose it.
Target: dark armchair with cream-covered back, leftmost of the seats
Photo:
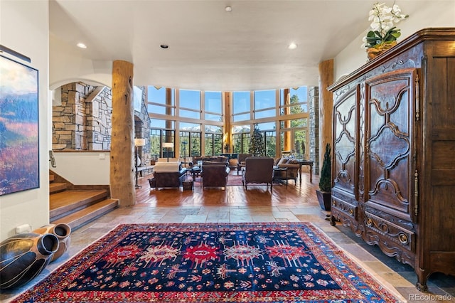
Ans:
[[[149,179],[150,187],[180,187],[186,169],[182,169],[180,162],[158,161],[154,167],[154,178]]]

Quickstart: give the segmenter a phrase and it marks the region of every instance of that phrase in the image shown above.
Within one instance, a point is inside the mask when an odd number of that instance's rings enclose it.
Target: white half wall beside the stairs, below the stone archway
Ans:
[[[75,185],[109,185],[110,153],[54,152],[57,167],[51,171]]]

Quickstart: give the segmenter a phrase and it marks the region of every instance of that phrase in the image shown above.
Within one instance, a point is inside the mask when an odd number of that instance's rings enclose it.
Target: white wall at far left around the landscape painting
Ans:
[[[22,63],[38,70],[38,119],[39,129],[41,129],[39,134],[40,188],[0,197],[0,240],[15,235],[18,225],[27,223],[34,229],[49,223],[48,16],[47,0],[0,1],[0,44],[31,58],[31,63]]]

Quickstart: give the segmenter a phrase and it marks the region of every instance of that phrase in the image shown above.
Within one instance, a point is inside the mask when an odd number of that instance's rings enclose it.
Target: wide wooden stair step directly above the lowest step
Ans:
[[[81,208],[107,198],[105,190],[60,191],[49,196],[50,220],[56,220],[65,213],[79,211]]]

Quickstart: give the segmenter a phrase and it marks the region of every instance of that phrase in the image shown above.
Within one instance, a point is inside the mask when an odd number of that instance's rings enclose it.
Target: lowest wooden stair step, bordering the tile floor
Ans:
[[[106,199],[92,204],[91,206],[87,206],[86,208],[82,208],[80,211],[71,213],[68,216],[51,221],[51,223],[66,223],[70,225],[71,229],[75,230],[76,228],[80,228],[82,225],[89,223],[91,220],[112,211],[112,209],[117,208],[117,206],[119,206],[119,199]]]

